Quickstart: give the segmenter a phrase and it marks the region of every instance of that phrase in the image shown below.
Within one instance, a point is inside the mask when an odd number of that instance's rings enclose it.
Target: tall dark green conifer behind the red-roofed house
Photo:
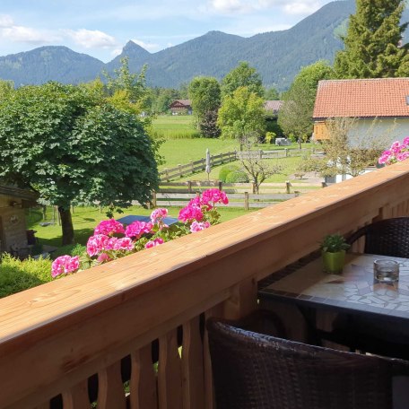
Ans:
[[[409,54],[402,38],[405,1],[356,0],[344,50],[335,56],[338,78],[386,78],[409,76]]]

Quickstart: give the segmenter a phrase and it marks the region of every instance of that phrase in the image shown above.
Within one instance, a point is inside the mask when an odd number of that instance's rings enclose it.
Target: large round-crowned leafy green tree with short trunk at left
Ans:
[[[24,86],[0,99],[0,178],[58,206],[63,244],[71,204],[146,203],[158,184],[154,148],[135,114],[89,87]]]

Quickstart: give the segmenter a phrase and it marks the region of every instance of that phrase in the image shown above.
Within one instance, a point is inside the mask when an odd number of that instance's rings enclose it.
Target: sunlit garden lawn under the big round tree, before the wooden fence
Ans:
[[[180,207],[169,207],[169,214],[171,217],[178,217]],[[226,208],[219,207],[222,214],[222,222],[234,219],[243,214],[249,213],[239,208]],[[122,214],[115,214],[115,219],[124,217],[128,214],[140,214],[150,215],[152,210],[144,209],[141,206],[132,206],[124,210]],[[101,221],[107,219],[104,212],[100,213],[98,207],[74,207],[73,223],[75,232],[75,241],[80,244],[86,244],[88,238],[93,234],[95,226]],[[44,222],[42,220],[40,209],[30,209],[27,212],[27,226],[28,229],[37,231],[36,237],[39,238],[41,244],[47,244],[48,246],[61,246],[61,226],[58,226],[57,221],[53,220],[53,212],[51,207],[48,207],[46,222],[52,222],[48,226],[40,226],[39,223]]]

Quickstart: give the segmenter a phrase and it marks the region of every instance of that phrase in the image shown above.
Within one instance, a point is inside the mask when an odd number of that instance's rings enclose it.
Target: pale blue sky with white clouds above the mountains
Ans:
[[[104,62],[129,39],[154,53],[221,30],[285,30],[330,0],[1,0],[0,56],[63,45]]]

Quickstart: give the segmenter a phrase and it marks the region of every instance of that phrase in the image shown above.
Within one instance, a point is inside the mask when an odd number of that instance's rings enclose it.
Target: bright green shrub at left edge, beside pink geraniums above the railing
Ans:
[[[19,260],[4,254],[0,263],[0,298],[51,281],[49,258]]]

